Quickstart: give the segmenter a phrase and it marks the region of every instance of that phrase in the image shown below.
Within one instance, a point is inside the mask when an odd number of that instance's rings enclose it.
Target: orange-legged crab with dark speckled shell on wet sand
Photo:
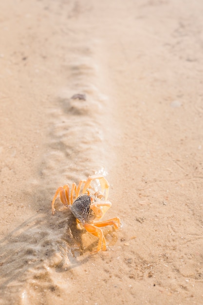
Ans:
[[[101,191],[94,191],[91,187],[92,180],[98,179],[101,186]],[[81,188],[82,185],[82,194]],[[95,174],[89,176],[87,180],[80,180],[78,186],[73,183],[70,192],[69,185],[59,187],[52,201],[52,214],[55,213],[55,200],[57,195],[60,195],[60,200],[65,207],[71,210],[77,223],[81,225],[94,236],[99,238],[97,250],[106,251],[107,243],[102,231],[102,227],[113,226],[118,229],[121,225],[120,218],[114,217],[106,221],[99,221],[104,214],[111,208],[111,202],[108,199],[109,182],[103,175]],[[94,253],[93,252],[93,253]]]

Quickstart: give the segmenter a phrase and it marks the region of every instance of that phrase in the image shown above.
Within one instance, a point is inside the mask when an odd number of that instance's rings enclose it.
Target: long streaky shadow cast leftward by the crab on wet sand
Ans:
[[[27,219],[0,240],[0,290],[20,286],[49,264],[55,272],[67,272],[87,262],[90,255],[81,248],[84,231],[68,210],[54,216],[42,211]]]

